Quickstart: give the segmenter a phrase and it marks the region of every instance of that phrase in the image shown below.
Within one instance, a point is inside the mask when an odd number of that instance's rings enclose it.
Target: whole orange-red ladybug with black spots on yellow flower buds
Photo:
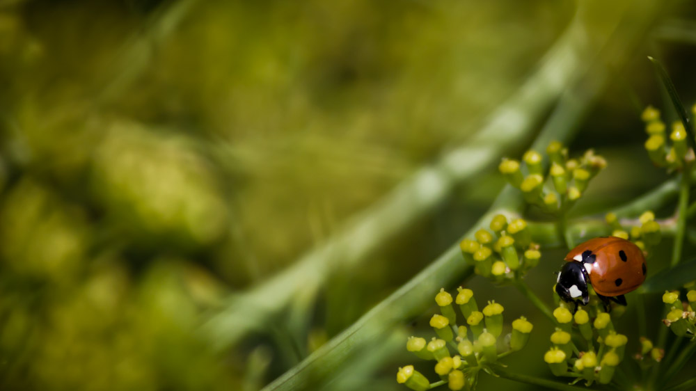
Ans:
[[[624,294],[645,280],[645,257],[635,244],[619,237],[598,237],[576,246],[556,278],[556,293],[568,303],[587,305],[587,284],[601,299],[605,310],[610,301],[626,305]]]

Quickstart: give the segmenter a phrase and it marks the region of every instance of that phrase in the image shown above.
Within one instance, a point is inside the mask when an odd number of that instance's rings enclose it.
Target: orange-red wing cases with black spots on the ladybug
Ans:
[[[626,294],[638,288],[645,280],[643,252],[631,241],[619,237],[598,237],[585,241],[570,250],[565,260],[585,260],[592,288],[602,296]]]

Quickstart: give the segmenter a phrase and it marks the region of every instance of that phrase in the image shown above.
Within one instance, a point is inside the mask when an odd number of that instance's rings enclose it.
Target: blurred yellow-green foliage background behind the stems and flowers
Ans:
[[[645,56],[661,58],[693,103],[696,7],[662,7],[635,49],[602,55],[621,65],[574,125],[571,150],[594,147],[609,167],[578,216],[667,178],[642,150],[638,106],[662,105]],[[503,187],[495,164],[363,266],[333,273],[299,313],[274,314],[223,349],[200,327],[443,150],[466,145],[576,8],[0,1],[0,388],[251,391],[283,374],[457,241]],[[561,256],[546,252],[530,276],[545,300]],[[528,354],[539,359],[508,363],[548,376],[550,326],[538,312],[507,289],[468,284],[508,319],[537,318]],[[421,334],[423,319],[413,326]],[[394,381],[404,360],[356,369],[342,387],[405,389]]]

